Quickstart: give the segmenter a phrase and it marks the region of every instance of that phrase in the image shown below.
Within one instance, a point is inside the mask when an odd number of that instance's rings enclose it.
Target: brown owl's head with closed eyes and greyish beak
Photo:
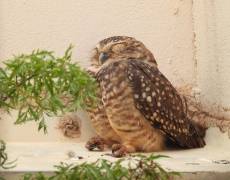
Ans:
[[[93,49],[91,65],[95,68],[106,66],[114,61],[142,60],[157,66],[153,54],[145,45],[132,37],[113,36],[100,41]]]

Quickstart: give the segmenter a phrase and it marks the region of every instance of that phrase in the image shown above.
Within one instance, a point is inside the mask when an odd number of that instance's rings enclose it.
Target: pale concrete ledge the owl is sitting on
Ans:
[[[210,138],[210,136],[212,138]],[[202,149],[164,151],[171,158],[158,162],[167,170],[184,174],[182,179],[230,179],[230,140],[226,134],[216,129],[207,133],[207,146]],[[7,179],[17,179],[25,172],[43,171],[52,173],[53,165],[60,162],[81,163],[92,162],[98,158],[116,161],[106,152],[89,152],[82,143],[8,143],[7,151],[10,159],[17,158],[14,169],[1,170]],[[79,158],[81,157],[81,158]]]

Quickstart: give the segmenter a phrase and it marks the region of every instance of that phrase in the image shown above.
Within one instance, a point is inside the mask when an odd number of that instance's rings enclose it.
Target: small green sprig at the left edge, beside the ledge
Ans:
[[[0,140],[0,168],[3,168],[3,169],[14,168],[16,166],[15,164],[16,160],[9,162],[8,155],[5,151],[6,151],[6,143]]]

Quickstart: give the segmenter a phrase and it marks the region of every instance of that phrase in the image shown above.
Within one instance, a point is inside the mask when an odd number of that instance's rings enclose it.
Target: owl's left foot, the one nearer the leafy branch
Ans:
[[[94,151],[94,150],[99,150],[99,151],[103,151],[105,149],[105,140],[102,139],[99,136],[95,136],[90,138],[85,147],[89,150],[89,151]]]

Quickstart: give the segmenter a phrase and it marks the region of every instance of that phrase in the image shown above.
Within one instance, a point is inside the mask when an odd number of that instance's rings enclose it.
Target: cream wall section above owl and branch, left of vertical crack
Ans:
[[[70,43],[88,65],[90,50],[108,36],[143,41],[168,77],[193,81],[191,0],[1,0],[0,59],[34,48],[61,54]]]

